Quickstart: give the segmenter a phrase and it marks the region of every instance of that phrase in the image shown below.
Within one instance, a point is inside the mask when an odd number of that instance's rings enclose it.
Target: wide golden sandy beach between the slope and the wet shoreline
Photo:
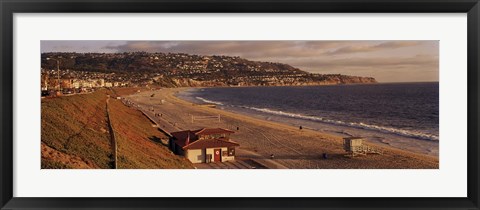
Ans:
[[[261,120],[212,106],[183,101],[174,96],[181,88],[143,91],[126,99],[154,116],[162,129],[179,130],[220,127],[235,131],[232,140],[239,143],[237,159],[250,159],[268,168],[295,169],[437,169],[436,157],[382,145],[369,146],[383,154],[346,157],[339,136],[290,125]],[[152,111],[153,110],[153,111]],[[158,114],[155,116],[155,114]],[[192,116],[219,116],[192,120]],[[368,143],[366,143],[368,144]],[[326,153],[328,158],[323,158]],[[271,158],[271,155],[274,158]]]

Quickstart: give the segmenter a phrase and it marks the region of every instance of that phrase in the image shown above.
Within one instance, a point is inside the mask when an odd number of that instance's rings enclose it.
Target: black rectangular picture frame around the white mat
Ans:
[[[0,0],[1,209],[479,209],[478,0]],[[13,197],[15,13],[467,13],[468,196],[465,198],[25,198]],[[448,181],[448,180],[445,180]]]

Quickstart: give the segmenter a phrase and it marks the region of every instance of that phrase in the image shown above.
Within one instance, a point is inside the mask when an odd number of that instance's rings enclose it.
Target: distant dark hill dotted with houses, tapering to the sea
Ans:
[[[232,56],[146,52],[42,53],[41,67],[46,73],[57,68],[56,61],[47,58],[61,61],[60,69],[64,70],[62,78],[84,79],[82,77],[93,74],[96,78],[130,85],[185,87],[376,83],[372,77],[312,74],[288,64]]]

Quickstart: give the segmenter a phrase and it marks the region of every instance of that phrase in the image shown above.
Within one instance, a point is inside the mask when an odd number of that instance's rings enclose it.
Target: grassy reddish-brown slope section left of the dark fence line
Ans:
[[[70,158],[112,167],[105,99],[105,91],[42,99],[41,139],[53,149],[42,148],[42,168],[75,167]]]

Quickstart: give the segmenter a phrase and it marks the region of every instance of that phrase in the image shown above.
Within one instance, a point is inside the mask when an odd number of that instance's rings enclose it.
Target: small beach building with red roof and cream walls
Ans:
[[[192,163],[225,162],[235,160],[235,147],[230,140],[235,132],[223,128],[203,128],[173,132],[170,149],[185,156]]]

